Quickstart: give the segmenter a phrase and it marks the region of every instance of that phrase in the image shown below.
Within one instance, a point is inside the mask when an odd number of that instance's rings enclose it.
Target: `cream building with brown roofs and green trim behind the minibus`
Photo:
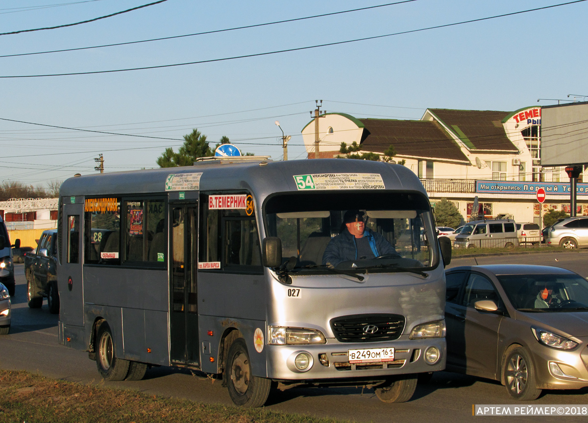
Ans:
[[[465,220],[475,197],[479,215],[510,217],[543,226],[549,210],[570,213],[569,177],[563,167],[542,167],[541,108],[427,109],[420,120],[359,119],[346,113],[319,117],[318,157],[345,157],[342,143],[404,164],[423,182],[431,203],[452,201]],[[315,158],[314,120],[302,129],[309,159]],[[396,155],[383,156],[393,146]],[[588,214],[588,184],[580,175],[577,215]],[[565,189],[568,187],[568,190]],[[537,201],[537,189],[546,198]]]

